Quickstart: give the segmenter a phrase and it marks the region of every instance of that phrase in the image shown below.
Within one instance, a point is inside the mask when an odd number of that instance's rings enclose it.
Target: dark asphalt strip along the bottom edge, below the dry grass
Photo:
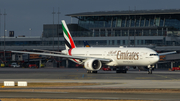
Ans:
[[[12,96],[13,95],[13,96]],[[158,100],[179,101],[179,94],[167,93],[48,93],[48,92],[0,92],[6,98],[52,98],[52,99],[112,99],[112,100]]]

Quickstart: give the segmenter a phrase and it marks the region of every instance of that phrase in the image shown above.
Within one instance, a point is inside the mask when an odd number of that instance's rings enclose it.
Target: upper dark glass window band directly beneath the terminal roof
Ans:
[[[92,28],[173,27],[180,30],[180,14],[80,16],[79,26]]]

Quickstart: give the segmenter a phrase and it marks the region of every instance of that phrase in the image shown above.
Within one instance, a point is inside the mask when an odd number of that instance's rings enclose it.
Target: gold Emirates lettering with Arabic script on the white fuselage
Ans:
[[[116,54],[118,60],[139,60],[139,52],[110,51],[108,54]]]

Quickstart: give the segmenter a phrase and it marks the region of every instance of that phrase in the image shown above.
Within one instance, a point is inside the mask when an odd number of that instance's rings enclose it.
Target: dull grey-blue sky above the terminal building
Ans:
[[[180,0],[0,0],[0,12],[6,10],[6,30],[15,31],[15,36],[41,36],[43,24],[53,23],[54,11],[60,9],[60,20],[71,23],[71,17],[66,14],[94,12],[94,11],[121,11],[121,10],[154,10],[180,9]],[[54,15],[55,24],[58,23],[58,14]],[[77,20],[73,18],[73,23]],[[0,20],[0,36],[4,34],[4,16]]]

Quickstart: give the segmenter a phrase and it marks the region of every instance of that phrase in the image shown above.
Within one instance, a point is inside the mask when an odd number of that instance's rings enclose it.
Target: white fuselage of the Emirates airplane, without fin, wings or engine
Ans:
[[[65,54],[81,57],[111,59],[108,66],[148,66],[159,61],[157,52],[149,48],[73,48],[62,51]]]

